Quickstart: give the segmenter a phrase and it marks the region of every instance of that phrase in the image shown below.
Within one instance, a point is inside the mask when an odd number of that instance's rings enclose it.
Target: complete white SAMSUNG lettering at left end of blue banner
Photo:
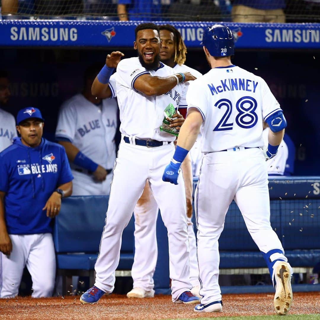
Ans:
[[[12,27],[10,39],[13,41],[76,41],[76,28],[46,28],[46,27]]]

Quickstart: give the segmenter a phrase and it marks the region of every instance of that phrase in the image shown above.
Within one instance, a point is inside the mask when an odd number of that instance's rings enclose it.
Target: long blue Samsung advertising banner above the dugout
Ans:
[[[0,20],[0,46],[132,47],[140,22],[97,20]],[[163,24],[164,22],[156,22]],[[213,22],[170,22],[187,47],[200,48]],[[239,49],[320,49],[320,24],[223,23]]]

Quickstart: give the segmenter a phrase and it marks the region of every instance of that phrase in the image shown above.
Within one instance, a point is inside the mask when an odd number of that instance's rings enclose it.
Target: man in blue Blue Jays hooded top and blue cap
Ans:
[[[18,295],[23,268],[32,278],[32,297],[50,297],[56,275],[51,221],[61,198],[72,192],[64,148],[42,138],[37,108],[17,115],[21,138],[0,153],[0,298]]]

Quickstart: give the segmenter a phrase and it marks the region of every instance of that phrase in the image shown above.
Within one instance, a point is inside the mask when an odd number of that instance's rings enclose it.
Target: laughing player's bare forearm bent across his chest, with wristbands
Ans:
[[[146,96],[160,96],[167,93],[180,82],[195,80],[196,77],[190,72],[176,73],[172,76],[158,77],[149,74],[141,75],[134,82],[134,89],[142,92]]]

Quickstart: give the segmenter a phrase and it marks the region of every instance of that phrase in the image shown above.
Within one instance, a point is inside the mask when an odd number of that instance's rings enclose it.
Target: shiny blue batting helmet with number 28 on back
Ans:
[[[221,24],[214,24],[204,30],[202,43],[212,57],[227,57],[235,53],[232,31]]]

